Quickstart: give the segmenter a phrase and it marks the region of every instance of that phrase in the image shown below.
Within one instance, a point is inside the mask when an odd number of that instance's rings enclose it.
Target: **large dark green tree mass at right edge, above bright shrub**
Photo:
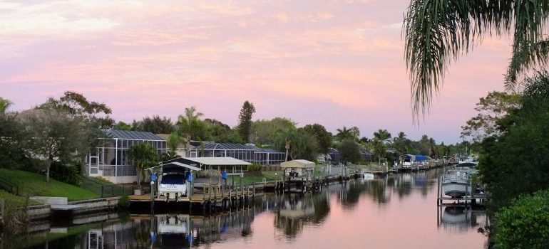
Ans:
[[[478,168],[493,208],[549,188],[549,73],[526,80],[522,105],[496,122],[498,134],[482,142]]]

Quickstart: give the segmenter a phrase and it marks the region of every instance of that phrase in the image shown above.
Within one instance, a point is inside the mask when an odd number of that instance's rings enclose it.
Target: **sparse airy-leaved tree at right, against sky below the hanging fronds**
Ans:
[[[489,92],[486,97],[476,103],[475,110],[478,114],[472,117],[461,127],[461,138],[470,138],[471,142],[481,142],[482,139],[492,135],[498,135],[496,122],[510,112],[520,107],[520,95],[518,93]]]

